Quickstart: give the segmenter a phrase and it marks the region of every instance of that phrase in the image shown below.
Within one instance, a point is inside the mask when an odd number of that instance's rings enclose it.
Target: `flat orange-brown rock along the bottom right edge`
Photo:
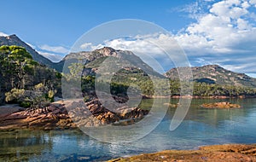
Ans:
[[[129,158],[109,160],[109,162],[114,161],[256,161],[256,144],[213,145],[201,147],[199,150],[166,150],[159,153],[146,153]]]

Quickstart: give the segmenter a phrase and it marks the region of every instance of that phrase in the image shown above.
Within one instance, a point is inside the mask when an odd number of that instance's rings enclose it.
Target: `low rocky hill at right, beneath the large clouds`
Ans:
[[[189,68],[189,67],[179,67]],[[207,65],[203,67],[191,67],[193,79],[199,83],[207,84],[229,84],[236,86],[247,86],[256,88],[256,78],[251,78],[244,73],[231,72],[218,65]],[[165,73],[167,78],[178,79],[177,68],[172,68]]]

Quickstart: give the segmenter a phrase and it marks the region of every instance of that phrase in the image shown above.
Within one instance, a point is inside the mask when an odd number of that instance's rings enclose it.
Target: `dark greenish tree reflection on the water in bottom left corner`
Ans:
[[[43,131],[2,131],[0,132],[0,161],[28,160],[50,152],[52,136]]]

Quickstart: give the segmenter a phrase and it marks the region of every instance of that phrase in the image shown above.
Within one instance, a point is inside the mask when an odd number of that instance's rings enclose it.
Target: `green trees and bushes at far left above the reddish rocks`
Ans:
[[[61,74],[32,59],[19,46],[0,47],[0,104],[44,107],[61,93]]]

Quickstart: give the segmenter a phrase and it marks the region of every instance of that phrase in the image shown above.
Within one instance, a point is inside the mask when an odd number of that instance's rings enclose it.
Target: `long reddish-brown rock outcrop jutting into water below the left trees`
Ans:
[[[84,102],[82,103],[84,105]],[[39,128],[45,130],[91,127],[113,124],[122,120],[142,119],[148,111],[138,107],[119,107],[118,113],[103,107],[97,99],[85,102],[81,107],[77,101],[58,101],[49,107],[36,110],[18,109],[1,116],[0,130]],[[67,112],[68,110],[68,112]]]

